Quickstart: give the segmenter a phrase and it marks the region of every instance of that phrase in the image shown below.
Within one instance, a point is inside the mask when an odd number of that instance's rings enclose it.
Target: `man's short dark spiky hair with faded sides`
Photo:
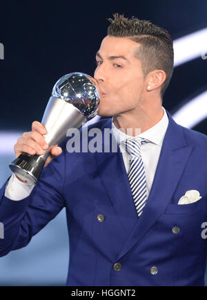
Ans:
[[[135,56],[141,61],[141,68],[146,75],[152,70],[164,70],[166,80],[161,86],[161,96],[164,94],[173,72],[173,41],[167,30],[152,24],[147,20],[135,17],[130,19],[124,14],[113,14],[114,19],[108,19],[107,34],[112,37],[128,37],[140,43]]]

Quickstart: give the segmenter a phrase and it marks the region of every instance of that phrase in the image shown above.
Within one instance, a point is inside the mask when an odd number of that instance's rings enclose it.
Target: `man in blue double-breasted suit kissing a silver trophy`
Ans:
[[[207,138],[177,125],[161,105],[173,69],[170,34],[119,14],[110,21],[95,70],[98,114],[107,118],[88,130],[112,128],[117,152],[69,153],[66,139],[52,148],[37,186],[13,174],[0,194],[0,255],[26,246],[66,207],[68,286],[202,286]],[[43,154],[43,134],[34,122],[16,156]],[[130,142],[135,148],[124,152]]]

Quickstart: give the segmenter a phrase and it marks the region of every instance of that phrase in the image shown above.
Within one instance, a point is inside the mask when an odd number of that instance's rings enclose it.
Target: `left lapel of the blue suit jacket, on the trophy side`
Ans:
[[[104,128],[111,128],[111,122],[110,119]],[[103,131],[104,128],[102,128]],[[110,145],[112,145],[111,141],[112,139],[110,139]],[[107,143],[108,140],[104,140],[103,137],[103,145],[106,146]],[[108,197],[117,212],[117,217],[121,221],[127,237],[137,223],[138,217],[119,146],[117,145],[117,152],[96,153],[95,158],[97,160],[97,174],[106,188]]]

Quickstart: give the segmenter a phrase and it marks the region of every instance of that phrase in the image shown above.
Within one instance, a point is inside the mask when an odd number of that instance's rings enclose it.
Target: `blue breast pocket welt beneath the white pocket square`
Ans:
[[[192,214],[202,209],[207,197],[202,197],[198,201],[189,204],[168,204],[165,214]]]

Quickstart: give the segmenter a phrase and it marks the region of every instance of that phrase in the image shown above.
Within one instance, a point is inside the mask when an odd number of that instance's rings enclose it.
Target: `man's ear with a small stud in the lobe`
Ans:
[[[166,80],[166,73],[164,70],[153,70],[148,73],[146,77],[146,90],[148,92],[159,88]]]

